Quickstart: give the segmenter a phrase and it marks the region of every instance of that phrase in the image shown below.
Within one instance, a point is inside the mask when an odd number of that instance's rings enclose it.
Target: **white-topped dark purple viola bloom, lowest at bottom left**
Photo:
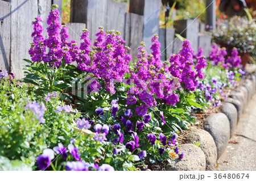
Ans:
[[[50,165],[52,159],[54,158],[54,151],[52,149],[45,149],[43,154],[39,155],[38,159],[36,159],[36,163],[38,163],[38,169],[45,170]]]

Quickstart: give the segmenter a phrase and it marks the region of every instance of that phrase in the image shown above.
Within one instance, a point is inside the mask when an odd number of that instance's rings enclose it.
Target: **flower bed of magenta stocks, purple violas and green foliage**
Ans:
[[[118,31],[100,28],[92,44],[82,30],[79,46],[58,19],[53,5],[46,39],[35,18],[22,83],[0,73],[1,170],[212,169],[214,159],[206,162],[198,148],[203,141],[180,145],[181,133],[245,77],[236,49],[226,57],[213,45],[207,60],[185,40],[162,63],[155,35],[152,52],[141,43],[134,63]],[[193,168],[182,165],[201,160],[191,148],[206,160]]]

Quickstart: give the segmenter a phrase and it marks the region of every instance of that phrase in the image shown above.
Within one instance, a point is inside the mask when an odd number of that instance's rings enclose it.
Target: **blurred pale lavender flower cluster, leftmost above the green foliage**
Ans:
[[[46,121],[44,120],[44,111],[46,111],[46,107],[44,106],[44,103],[41,103],[42,106],[40,106],[39,102],[36,102],[34,100],[34,102],[28,102],[27,106],[24,107],[25,110],[30,109],[32,110],[34,113],[36,113],[36,115],[38,115],[38,119],[41,123],[46,123]]]

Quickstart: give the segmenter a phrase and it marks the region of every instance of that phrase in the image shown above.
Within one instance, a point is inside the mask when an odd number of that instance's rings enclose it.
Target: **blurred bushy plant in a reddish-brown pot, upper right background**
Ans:
[[[256,24],[249,16],[234,16],[231,19],[222,20],[217,31],[213,33],[212,39],[221,47],[225,47],[228,54],[236,47],[245,67],[250,55],[255,56],[256,47]]]

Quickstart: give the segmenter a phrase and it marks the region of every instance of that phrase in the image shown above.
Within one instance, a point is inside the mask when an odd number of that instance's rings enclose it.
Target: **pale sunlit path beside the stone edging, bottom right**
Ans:
[[[247,104],[216,170],[256,170],[256,94]]]

